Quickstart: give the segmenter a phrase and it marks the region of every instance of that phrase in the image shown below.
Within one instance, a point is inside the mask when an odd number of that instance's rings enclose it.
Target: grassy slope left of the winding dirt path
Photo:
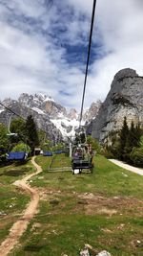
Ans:
[[[0,242],[9,234],[11,225],[22,214],[30,196],[12,183],[34,172],[31,161],[25,164],[10,164],[0,167]]]

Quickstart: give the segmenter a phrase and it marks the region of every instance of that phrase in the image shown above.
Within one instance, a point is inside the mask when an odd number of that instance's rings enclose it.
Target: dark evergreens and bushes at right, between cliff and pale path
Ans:
[[[111,146],[106,146],[109,157],[143,167],[143,128],[140,125],[134,126],[132,121],[129,127],[124,117],[121,130],[112,131],[110,138]]]

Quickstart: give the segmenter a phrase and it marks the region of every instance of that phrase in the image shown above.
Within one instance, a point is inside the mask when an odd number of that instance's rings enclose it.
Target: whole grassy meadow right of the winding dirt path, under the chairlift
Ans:
[[[69,158],[61,159],[60,167],[70,165]],[[31,183],[39,190],[39,211],[10,255],[76,256],[84,244],[113,256],[143,255],[142,176],[100,155],[92,174],[50,173],[51,157],[36,161],[43,168]]]

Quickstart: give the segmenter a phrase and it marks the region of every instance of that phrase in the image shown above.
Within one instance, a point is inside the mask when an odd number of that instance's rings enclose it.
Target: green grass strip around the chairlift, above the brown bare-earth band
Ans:
[[[60,157],[58,155],[58,157]],[[66,158],[66,157],[65,157]],[[70,158],[69,158],[70,159]],[[70,165],[70,160],[69,165]],[[98,155],[94,159],[94,169],[92,174],[72,175],[72,173],[49,173],[49,157],[38,156],[36,162],[44,170],[38,176],[33,177],[33,185],[47,187],[50,189],[61,189],[63,191],[91,192],[111,196],[133,196],[142,198],[143,177],[126,171],[110,162],[103,156]],[[60,162],[60,167],[63,165]],[[57,163],[55,163],[57,164]],[[64,166],[64,165],[63,165]],[[57,167],[57,165],[56,165]],[[39,179],[44,176],[44,180]]]

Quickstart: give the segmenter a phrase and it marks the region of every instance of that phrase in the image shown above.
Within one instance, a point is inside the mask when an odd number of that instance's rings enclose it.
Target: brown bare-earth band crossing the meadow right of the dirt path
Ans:
[[[65,207],[66,201],[64,197],[72,197],[75,201],[71,213],[85,212],[87,215],[126,215],[142,217],[143,216],[143,200],[133,197],[112,197],[106,198],[92,193],[78,194],[76,192],[67,193],[56,190],[42,188],[40,190],[40,199],[48,201],[58,200],[57,205],[61,208]],[[56,208],[57,211],[57,208]]]

